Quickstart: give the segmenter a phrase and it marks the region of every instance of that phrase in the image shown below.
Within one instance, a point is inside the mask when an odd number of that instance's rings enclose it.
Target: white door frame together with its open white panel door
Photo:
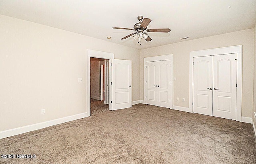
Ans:
[[[104,60],[105,62],[109,60],[109,87],[105,87],[105,89],[109,89],[108,92],[105,92],[105,95],[109,93],[109,96],[105,98],[106,101],[108,99],[109,110],[132,107],[132,61],[114,59],[113,53],[87,50],[87,116],[91,115],[90,57],[106,59],[106,61]],[[105,68],[104,72],[106,72],[107,69],[108,68]],[[107,82],[105,86],[106,84]]]

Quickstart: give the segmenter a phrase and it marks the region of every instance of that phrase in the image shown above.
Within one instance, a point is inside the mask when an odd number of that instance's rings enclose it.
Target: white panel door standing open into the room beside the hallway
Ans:
[[[132,107],[132,61],[112,59],[112,110]]]

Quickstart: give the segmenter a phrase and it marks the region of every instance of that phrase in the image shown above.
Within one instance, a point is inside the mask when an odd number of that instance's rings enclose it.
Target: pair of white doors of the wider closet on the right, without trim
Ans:
[[[236,56],[194,57],[194,113],[236,119]]]

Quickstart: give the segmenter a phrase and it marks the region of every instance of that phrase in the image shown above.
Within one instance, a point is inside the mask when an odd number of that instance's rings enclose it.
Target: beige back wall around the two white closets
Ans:
[[[140,51],[140,100],[144,100],[143,76],[144,57],[158,55],[174,55],[173,105],[188,107],[189,100],[189,52],[234,45],[243,45],[243,84],[242,84],[242,116],[252,117],[253,98],[253,29],[236,31],[222,35],[183,41]],[[176,98],[185,98],[185,102]]]

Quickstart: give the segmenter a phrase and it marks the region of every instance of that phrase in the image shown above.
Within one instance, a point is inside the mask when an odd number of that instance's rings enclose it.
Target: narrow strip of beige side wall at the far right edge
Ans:
[[[255,123],[254,112],[256,112],[256,22],[254,25],[254,86],[253,86],[253,110],[252,119]],[[256,132],[255,132],[256,133]]]

